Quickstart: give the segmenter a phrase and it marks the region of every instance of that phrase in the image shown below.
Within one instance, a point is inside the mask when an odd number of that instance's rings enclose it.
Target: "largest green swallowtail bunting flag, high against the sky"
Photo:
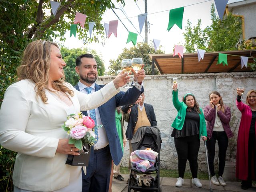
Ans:
[[[184,7],[171,9],[169,12],[169,24],[167,30],[170,31],[172,26],[176,24],[180,29],[182,29]]]

